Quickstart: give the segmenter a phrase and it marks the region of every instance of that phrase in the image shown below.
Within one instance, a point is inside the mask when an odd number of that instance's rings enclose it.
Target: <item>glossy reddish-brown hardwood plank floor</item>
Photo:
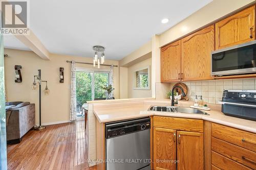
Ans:
[[[84,120],[31,130],[22,142],[8,145],[8,169],[97,169],[89,168],[88,139]]]

